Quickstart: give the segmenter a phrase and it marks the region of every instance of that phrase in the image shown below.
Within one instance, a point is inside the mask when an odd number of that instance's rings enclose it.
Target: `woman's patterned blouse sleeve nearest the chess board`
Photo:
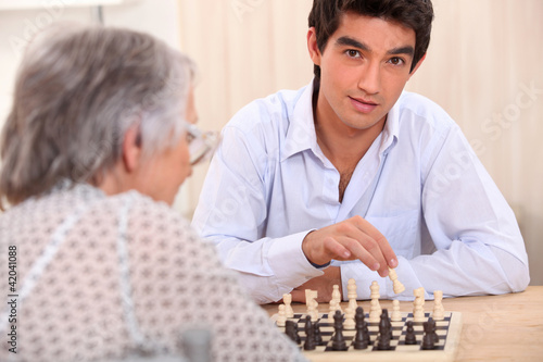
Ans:
[[[136,204],[128,230],[136,316],[149,339],[176,350],[184,330],[203,327],[212,334],[215,361],[304,360],[214,247],[167,205]]]

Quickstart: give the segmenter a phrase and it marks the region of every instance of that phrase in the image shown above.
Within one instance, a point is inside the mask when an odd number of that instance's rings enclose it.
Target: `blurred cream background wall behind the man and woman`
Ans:
[[[53,21],[97,22],[89,1],[0,0],[0,124],[21,46]],[[202,128],[220,129],[251,100],[300,88],[312,78],[305,42],[312,0],[97,2],[104,4],[106,25],[149,32],[197,61]],[[25,3],[29,8],[21,9]],[[428,55],[407,90],[434,100],[460,125],[517,214],[531,284],[543,285],[543,1],[433,4]],[[205,165],[195,168],[176,200],[175,208],[188,217],[205,172]]]

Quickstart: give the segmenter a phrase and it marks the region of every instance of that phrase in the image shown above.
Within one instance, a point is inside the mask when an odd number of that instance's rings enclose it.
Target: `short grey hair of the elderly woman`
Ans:
[[[53,26],[28,46],[0,138],[0,208],[62,179],[98,184],[139,127],[153,157],[184,134],[194,63],[150,35]]]

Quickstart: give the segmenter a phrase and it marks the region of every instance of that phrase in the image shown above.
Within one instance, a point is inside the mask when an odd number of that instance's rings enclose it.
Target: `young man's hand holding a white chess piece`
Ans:
[[[389,266],[396,267],[396,254],[387,238],[362,216],[307,234],[302,241],[305,258],[323,265],[334,260],[361,260],[380,276],[389,274]]]

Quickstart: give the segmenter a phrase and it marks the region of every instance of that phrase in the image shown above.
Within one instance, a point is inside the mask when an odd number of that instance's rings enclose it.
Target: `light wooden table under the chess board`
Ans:
[[[380,300],[392,310],[391,300]],[[342,303],[345,304],[346,303]],[[358,301],[369,310],[369,301]],[[305,312],[305,304],[292,304],[294,312]],[[444,299],[445,311],[462,312],[463,329],[457,361],[543,361],[543,286],[503,296],[460,297]],[[277,304],[262,305],[269,315]],[[413,310],[412,302],[401,302],[403,312]],[[318,307],[328,312],[328,303]],[[433,301],[426,301],[431,311]]]

